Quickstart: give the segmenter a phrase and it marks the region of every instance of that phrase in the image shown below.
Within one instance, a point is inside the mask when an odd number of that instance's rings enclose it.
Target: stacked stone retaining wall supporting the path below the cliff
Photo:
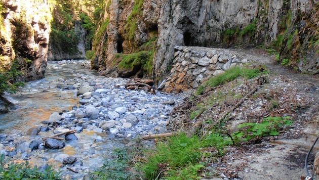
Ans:
[[[176,46],[170,75],[158,86],[167,93],[197,88],[211,76],[254,59],[243,52],[205,47]]]

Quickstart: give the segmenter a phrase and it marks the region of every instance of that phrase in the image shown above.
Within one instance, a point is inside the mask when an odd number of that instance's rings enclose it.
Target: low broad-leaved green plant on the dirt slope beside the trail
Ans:
[[[261,123],[247,122],[237,126],[242,128],[235,131],[231,136],[240,141],[249,141],[255,138],[264,136],[276,136],[279,134],[278,130],[283,126],[292,125],[290,116],[286,117],[267,117]]]

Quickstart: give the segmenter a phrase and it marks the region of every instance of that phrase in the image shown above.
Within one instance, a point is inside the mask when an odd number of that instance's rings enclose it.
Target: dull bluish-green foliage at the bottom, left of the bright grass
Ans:
[[[129,166],[133,158],[129,148],[115,149],[111,154],[114,158],[108,158],[102,167],[90,174],[92,179],[136,179],[135,172]]]

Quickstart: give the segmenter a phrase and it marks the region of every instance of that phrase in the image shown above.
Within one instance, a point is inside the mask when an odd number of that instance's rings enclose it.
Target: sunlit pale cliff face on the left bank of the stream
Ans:
[[[6,66],[15,59],[24,73],[21,80],[43,78],[50,33],[49,3],[38,0],[2,0],[2,7],[2,65]]]

